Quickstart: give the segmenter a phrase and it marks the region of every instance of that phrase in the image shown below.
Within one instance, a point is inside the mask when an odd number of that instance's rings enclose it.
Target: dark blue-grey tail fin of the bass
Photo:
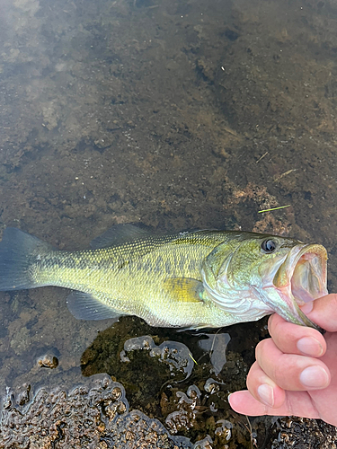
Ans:
[[[40,254],[49,251],[54,251],[49,243],[20,229],[7,227],[0,242],[0,290],[40,286],[32,277],[31,267],[40,260]]]

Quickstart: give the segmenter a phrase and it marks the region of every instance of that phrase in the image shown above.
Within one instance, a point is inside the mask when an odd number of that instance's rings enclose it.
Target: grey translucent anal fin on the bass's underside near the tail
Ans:
[[[103,304],[95,296],[84,292],[73,291],[67,296],[67,307],[77,320],[119,319],[119,313],[110,305]]]

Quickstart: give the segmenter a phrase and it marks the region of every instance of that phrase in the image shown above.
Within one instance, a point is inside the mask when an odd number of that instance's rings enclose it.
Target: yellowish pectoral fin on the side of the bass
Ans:
[[[200,303],[203,301],[204,286],[197,279],[173,277],[164,281],[164,288],[173,298],[173,301],[180,303]]]

